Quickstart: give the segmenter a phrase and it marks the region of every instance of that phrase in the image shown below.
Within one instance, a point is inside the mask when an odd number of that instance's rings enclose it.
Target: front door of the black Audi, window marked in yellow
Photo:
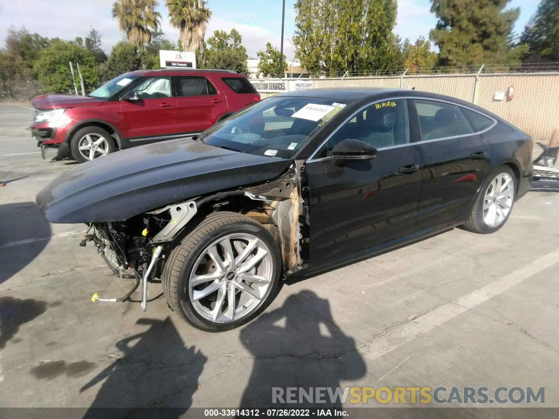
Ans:
[[[408,122],[405,99],[373,103],[307,162],[312,265],[359,258],[413,238],[421,159],[418,145],[410,143]],[[376,147],[376,158],[335,165],[328,154],[349,138]]]

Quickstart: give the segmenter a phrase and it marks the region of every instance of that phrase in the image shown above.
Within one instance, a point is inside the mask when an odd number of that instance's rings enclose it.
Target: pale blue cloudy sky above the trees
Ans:
[[[102,47],[110,51],[112,45],[122,39],[118,23],[111,17],[114,0],[0,0],[0,44],[6,38],[8,27],[25,28],[42,36],[73,40],[85,37],[89,26],[101,33]],[[163,17],[163,31],[170,40],[178,40],[178,30],[168,21],[164,0],[159,0],[159,12]],[[536,12],[537,0],[512,0],[509,7],[520,7],[520,18],[514,31],[522,32],[524,25]],[[292,59],[290,43],[295,30],[293,0],[286,1],[284,54]],[[206,32],[207,37],[215,30],[230,31],[235,28],[243,36],[243,45],[250,58],[256,58],[257,51],[266,48],[266,42],[280,48],[282,0],[258,0],[232,2],[230,0],[209,0],[212,17]],[[394,31],[402,39],[414,42],[420,35],[429,39],[429,30],[437,19],[429,12],[429,0],[399,0],[398,17]]]

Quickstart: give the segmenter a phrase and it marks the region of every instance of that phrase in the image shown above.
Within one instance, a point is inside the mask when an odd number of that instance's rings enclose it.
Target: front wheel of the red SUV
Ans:
[[[74,134],[70,149],[73,158],[84,163],[115,151],[115,142],[102,128],[85,127]]]

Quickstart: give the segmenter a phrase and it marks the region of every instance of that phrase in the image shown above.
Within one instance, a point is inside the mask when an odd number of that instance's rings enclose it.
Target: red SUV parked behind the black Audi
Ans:
[[[115,150],[179,136],[195,136],[258,102],[244,75],[229,70],[158,69],[125,73],[87,96],[45,94],[32,135],[42,156],[93,160]]]

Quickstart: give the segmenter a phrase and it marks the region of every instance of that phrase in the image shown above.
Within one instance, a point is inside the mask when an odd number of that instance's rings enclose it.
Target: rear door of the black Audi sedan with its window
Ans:
[[[423,186],[418,230],[444,228],[465,221],[470,204],[488,173],[491,145],[472,128],[456,104],[409,99],[415,109]],[[472,111],[473,112],[473,111]]]

